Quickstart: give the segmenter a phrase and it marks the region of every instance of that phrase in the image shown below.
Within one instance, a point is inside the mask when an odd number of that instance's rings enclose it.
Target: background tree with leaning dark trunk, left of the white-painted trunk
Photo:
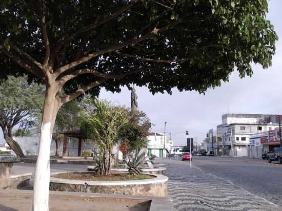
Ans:
[[[35,126],[36,116],[43,109],[44,86],[28,83],[26,76],[9,76],[0,81],[0,96],[0,126],[4,138],[17,156],[24,157],[12,132],[17,126],[14,135],[26,135]]]

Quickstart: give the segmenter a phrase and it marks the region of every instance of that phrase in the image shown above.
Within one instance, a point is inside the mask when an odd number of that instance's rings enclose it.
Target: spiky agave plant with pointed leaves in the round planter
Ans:
[[[139,153],[130,154],[126,160],[128,172],[130,175],[139,175],[142,173],[142,164],[146,161],[146,149],[142,149]]]

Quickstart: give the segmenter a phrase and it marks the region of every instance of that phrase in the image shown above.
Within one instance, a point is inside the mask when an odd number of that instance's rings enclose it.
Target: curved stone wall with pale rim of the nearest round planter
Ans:
[[[55,173],[60,174],[60,173]],[[52,175],[55,175],[52,174]],[[51,191],[122,194],[132,196],[157,196],[166,197],[168,177],[164,175],[148,174],[155,176],[145,180],[125,181],[86,181],[50,178]]]

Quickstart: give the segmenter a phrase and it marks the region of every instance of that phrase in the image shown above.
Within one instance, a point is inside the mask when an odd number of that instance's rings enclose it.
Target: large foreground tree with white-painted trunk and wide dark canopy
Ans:
[[[51,135],[64,103],[130,83],[202,93],[235,69],[251,75],[251,62],[267,68],[277,39],[267,7],[267,0],[2,0],[1,77],[28,72],[46,85],[33,210],[48,210]]]

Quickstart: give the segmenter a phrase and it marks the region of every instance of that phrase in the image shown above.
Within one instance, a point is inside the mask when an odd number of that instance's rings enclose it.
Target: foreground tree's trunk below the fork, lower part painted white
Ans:
[[[56,87],[46,89],[38,157],[34,173],[32,211],[49,211],[50,147],[58,99]]]

